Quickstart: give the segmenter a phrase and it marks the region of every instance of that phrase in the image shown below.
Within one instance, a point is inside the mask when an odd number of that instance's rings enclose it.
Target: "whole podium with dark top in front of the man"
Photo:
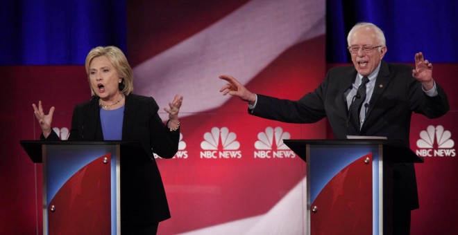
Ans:
[[[395,140],[283,140],[307,162],[307,234],[392,234],[393,164],[423,158]]]

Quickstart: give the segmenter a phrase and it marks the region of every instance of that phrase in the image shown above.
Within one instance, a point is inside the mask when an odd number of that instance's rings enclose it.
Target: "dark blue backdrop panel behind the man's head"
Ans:
[[[458,1],[327,0],[328,63],[351,62],[348,31],[359,21],[379,26],[387,39],[387,62],[413,63],[421,51],[433,63],[458,62]]]

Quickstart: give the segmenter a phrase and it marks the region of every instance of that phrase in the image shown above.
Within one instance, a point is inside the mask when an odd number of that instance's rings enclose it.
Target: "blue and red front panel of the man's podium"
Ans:
[[[382,147],[307,144],[307,234],[379,234]]]

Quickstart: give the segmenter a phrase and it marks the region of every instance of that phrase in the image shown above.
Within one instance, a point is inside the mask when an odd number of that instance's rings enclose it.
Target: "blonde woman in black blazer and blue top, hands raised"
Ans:
[[[173,158],[178,151],[178,112],[183,96],[176,95],[169,108],[164,108],[169,113],[169,121],[164,124],[152,97],[132,93],[133,71],[119,48],[92,49],[85,68],[92,98],[75,106],[68,140],[141,142],[150,160],[128,162],[121,168],[121,230],[127,234],[155,234],[158,223],[170,218],[170,212],[153,153]],[[54,107],[47,115],[42,102],[33,104],[33,109],[42,128],[41,139],[59,140],[51,129]]]

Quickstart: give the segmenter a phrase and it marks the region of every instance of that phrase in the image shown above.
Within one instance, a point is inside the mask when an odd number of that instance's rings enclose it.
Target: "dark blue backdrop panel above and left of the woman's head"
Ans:
[[[95,46],[126,51],[126,2],[2,0],[1,65],[84,64]]]

